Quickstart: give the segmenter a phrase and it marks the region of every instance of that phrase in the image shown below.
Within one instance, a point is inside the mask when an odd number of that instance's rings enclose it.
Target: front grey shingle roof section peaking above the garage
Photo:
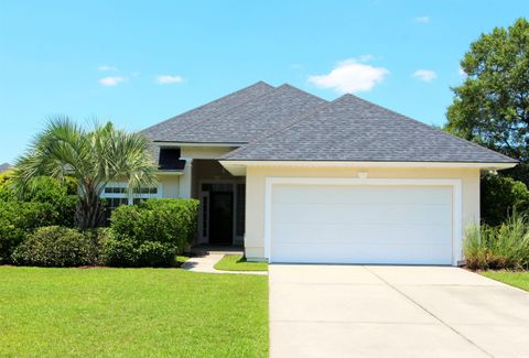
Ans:
[[[353,95],[222,160],[516,163]]]

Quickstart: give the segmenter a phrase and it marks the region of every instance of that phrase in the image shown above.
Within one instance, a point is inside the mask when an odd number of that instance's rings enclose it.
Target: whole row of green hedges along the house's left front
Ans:
[[[0,263],[40,267],[172,267],[195,238],[198,200],[121,206],[111,227],[55,226],[51,203],[0,202]]]

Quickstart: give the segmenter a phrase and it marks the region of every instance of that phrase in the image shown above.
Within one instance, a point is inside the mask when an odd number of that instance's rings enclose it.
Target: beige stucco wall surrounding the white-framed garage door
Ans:
[[[433,167],[279,167],[248,166],[246,176],[246,237],[248,259],[264,259],[264,180],[283,177],[358,177],[369,178],[458,178],[462,181],[462,226],[479,221],[479,170]]]

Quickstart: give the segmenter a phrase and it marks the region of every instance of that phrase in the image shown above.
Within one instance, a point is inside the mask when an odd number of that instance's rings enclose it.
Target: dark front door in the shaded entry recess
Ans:
[[[209,243],[231,245],[234,237],[234,193],[209,193]]]

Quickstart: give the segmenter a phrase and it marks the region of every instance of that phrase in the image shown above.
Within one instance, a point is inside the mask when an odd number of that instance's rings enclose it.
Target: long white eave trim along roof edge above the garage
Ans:
[[[518,163],[462,163],[462,162],[333,162],[333,161],[230,161],[219,160],[223,166],[358,166],[358,167],[481,167],[509,169]]]

